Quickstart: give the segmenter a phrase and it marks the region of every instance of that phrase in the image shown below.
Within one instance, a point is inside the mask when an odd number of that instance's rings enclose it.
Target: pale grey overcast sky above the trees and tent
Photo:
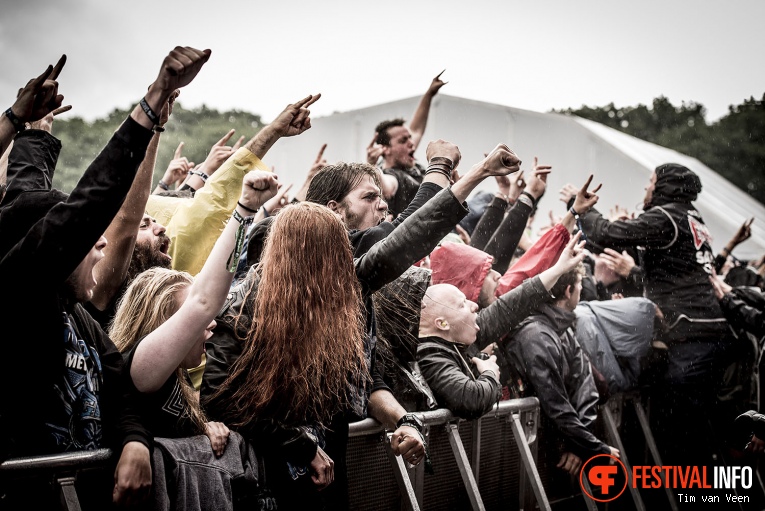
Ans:
[[[417,96],[444,68],[446,94],[541,112],[665,95],[715,120],[765,92],[761,0],[4,4],[2,108],[66,53],[60,91],[87,119],[140,99],[176,44],[213,51],[184,106],[265,121],[316,92],[314,115]]]

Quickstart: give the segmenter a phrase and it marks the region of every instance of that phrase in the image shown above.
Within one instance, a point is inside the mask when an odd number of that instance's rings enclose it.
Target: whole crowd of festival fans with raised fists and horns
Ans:
[[[690,169],[657,167],[637,215],[601,214],[589,176],[534,232],[550,166],[521,171],[499,143],[465,169],[444,140],[415,161],[438,75],[409,124],[380,122],[366,162],[322,147],[294,196],[264,160],[311,128],[320,94],[199,165],[179,147],[153,183],[209,58],[172,50],[69,194],[52,187],[66,58],[0,117],[0,318],[20,354],[0,372],[0,460],[110,447],[113,480],[81,492],[93,509],[345,509],[350,423],[375,418],[416,466],[413,412],[472,419],[536,396],[541,448],[574,484],[590,457],[621,456],[598,416],[622,392],[649,404],[665,464],[743,452],[726,432],[752,401],[726,391],[765,335],[765,258],[732,255],[752,220],[713,253]],[[474,194],[487,179],[498,192]]]

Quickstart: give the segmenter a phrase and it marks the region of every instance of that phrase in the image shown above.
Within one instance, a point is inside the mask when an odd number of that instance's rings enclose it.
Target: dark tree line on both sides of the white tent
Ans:
[[[127,117],[127,110],[114,110],[108,116],[87,122],[80,117],[57,119],[53,132],[63,149],[54,186],[71,191],[87,165]],[[673,105],[660,96],[650,106],[639,104],[618,108],[613,103],[601,107],[583,106],[558,111],[578,115],[629,135],[698,158],[746,193],[765,203],[765,94],[740,105],[731,105],[719,120],[706,121],[701,103]],[[252,137],[263,127],[260,115],[242,110],[220,112],[202,105],[185,109],[176,103],[171,122],[162,136],[154,180],[162,177],[167,163],[180,142],[183,156],[202,163],[210,147],[229,129],[236,129],[235,141]]]

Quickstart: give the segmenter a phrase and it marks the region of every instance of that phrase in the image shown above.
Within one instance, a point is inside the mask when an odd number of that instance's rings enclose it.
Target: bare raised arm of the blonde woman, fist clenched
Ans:
[[[155,392],[181,364],[199,342],[205,329],[215,318],[231,287],[233,272],[230,259],[239,236],[244,236],[244,218],[256,211],[276,194],[278,181],[274,174],[253,171],[244,178],[242,194],[234,216],[229,220],[210,252],[202,271],[189,290],[186,301],[154,332],[136,347],[130,376],[141,392]]]

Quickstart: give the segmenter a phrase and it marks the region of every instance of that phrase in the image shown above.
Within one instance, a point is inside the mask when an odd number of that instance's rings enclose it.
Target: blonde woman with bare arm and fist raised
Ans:
[[[196,277],[185,272],[153,268],[140,274],[121,299],[110,336],[125,355],[138,391],[147,426],[154,436],[178,438],[204,433],[220,456],[228,428],[207,422],[186,369],[202,361],[204,343],[215,328],[231,285],[232,264],[238,260],[251,211],[276,194],[275,175],[253,171],[245,175],[233,217],[215,243]]]

